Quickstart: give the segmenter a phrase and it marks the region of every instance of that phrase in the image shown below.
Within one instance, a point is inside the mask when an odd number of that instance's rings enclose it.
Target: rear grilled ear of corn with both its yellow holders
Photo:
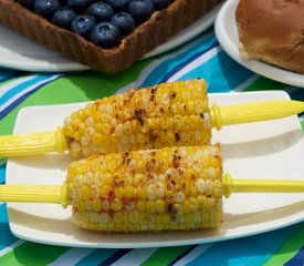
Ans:
[[[191,91],[191,94],[189,94]],[[160,146],[208,144],[211,129],[281,119],[304,111],[300,101],[208,106],[203,80],[164,83],[95,101],[54,132],[0,136],[0,157],[70,151],[87,157]],[[190,132],[190,133],[189,133]]]

